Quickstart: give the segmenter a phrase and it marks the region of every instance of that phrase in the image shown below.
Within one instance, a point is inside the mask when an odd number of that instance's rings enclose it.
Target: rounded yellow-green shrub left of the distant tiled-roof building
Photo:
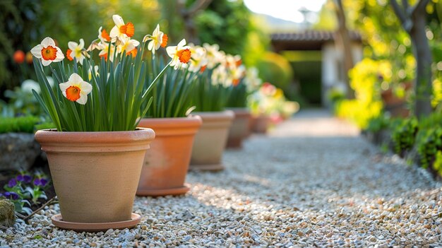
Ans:
[[[282,88],[282,90],[287,90],[287,86],[292,81],[292,66],[280,54],[265,52],[261,60],[256,64],[256,67],[263,82],[271,82],[277,88]]]

